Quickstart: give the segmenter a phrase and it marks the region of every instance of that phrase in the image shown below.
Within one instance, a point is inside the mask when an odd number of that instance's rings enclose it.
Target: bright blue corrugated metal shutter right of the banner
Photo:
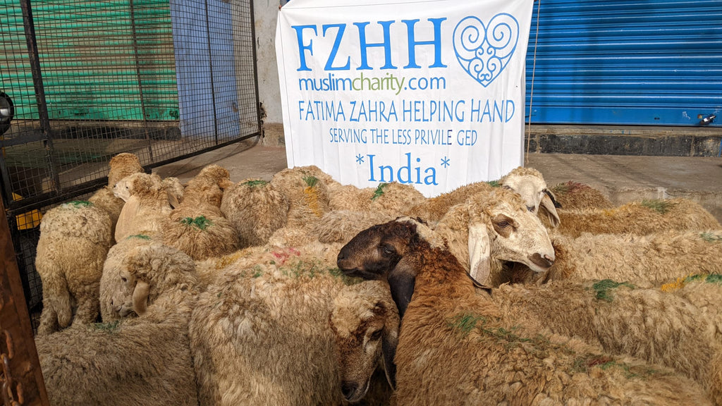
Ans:
[[[722,1],[537,0],[526,80],[532,124],[721,126]]]

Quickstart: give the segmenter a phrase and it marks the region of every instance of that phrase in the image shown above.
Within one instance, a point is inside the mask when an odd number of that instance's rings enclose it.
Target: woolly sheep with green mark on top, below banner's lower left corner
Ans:
[[[244,179],[223,192],[221,212],[238,233],[241,247],[260,246],[286,225],[290,204],[279,188],[261,179]]]

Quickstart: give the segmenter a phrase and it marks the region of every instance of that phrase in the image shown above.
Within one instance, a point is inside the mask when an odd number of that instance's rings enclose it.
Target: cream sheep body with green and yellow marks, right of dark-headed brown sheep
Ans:
[[[720,275],[692,275],[663,289],[613,280],[503,285],[492,301],[519,324],[674,368],[721,405],[721,282]]]

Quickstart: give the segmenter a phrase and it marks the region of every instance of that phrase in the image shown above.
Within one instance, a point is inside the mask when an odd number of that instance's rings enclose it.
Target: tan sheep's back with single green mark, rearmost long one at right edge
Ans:
[[[717,230],[717,219],[690,199],[630,202],[612,209],[559,210],[555,232],[578,237],[582,233],[644,236],[658,231]]]

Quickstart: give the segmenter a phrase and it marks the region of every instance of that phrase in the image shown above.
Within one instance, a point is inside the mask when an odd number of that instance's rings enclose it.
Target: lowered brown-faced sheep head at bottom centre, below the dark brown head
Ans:
[[[358,402],[383,358],[386,379],[394,389],[393,357],[399,340],[399,313],[388,285],[380,281],[347,286],[336,298],[329,324],[336,342],[339,381],[344,398]]]

